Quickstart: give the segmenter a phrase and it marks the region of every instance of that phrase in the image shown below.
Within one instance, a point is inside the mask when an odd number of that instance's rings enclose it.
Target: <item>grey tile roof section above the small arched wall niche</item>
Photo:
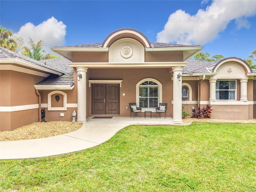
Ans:
[[[63,75],[50,75],[37,85],[70,85],[74,84],[74,69],[68,65],[70,60],[60,57],[60,58],[53,58],[47,60],[41,60],[40,62],[46,63],[49,66],[54,68],[58,68]]]

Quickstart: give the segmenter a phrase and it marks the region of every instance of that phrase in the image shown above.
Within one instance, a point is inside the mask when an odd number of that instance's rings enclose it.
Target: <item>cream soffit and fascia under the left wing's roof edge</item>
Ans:
[[[22,60],[20,58],[0,58],[1,64],[16,64],[17,66],[21,66],[27,69],[32,69],[40,72],[44,72],[45,74],[56,74],[58,76],[61,76],[61,72],[57,72],[48,68],[44,68],[39,65],[35,65],[33,63],[30,63],[28,61]]]

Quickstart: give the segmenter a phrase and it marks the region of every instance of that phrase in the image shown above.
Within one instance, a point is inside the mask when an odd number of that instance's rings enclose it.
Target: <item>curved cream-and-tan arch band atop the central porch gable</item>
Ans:
[[[121,38],[134,38],[138,40],[144,47],[151,47],[150,41],[142,32],[131,28],[122,28],[110,33],[102,43],[102,47],[109,47],[112,43]]]

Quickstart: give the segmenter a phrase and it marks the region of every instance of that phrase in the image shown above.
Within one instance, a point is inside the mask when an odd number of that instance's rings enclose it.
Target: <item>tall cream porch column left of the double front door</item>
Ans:
[[[80,73],[82,78],[77,79],[77,122],[86,122],[86,67],[77,67],[77,74]]]

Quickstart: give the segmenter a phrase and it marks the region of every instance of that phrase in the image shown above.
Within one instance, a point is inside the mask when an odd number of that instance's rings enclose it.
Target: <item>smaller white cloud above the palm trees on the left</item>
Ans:
[[[30,22],[26,23],[20,28],[19,32],[14,35],[22,37],[24,45],[26,46],[29,38],[32,38],[34,42],[43,40],[43,49],[46,50],[46,52],[51,52],[50,47],[64,45],[66,25],[64,25],[62,21],[58,21],[56,18],[51,17],[37,26]]]

